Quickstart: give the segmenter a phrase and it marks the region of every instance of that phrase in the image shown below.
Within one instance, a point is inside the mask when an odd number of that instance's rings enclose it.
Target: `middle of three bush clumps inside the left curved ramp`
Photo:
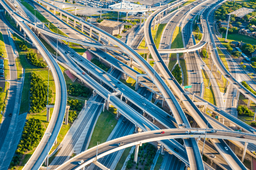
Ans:
[[[44,110],[47,105],[47,90],[48,84],[46,84],[35,73],[30,75],[30,113],[39,113]],[[49,103],[51,103],[52,90],[49,89]]]

